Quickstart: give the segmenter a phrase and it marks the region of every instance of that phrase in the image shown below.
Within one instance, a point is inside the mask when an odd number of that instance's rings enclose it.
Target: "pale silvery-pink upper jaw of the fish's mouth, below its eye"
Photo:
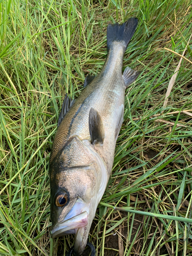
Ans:
[[[88,224],[88,212],[83,211],[81,214],[71,219],[56,224],[51,230],[51,238],[65,236],[65,234],[74,234],[80,227]]]

